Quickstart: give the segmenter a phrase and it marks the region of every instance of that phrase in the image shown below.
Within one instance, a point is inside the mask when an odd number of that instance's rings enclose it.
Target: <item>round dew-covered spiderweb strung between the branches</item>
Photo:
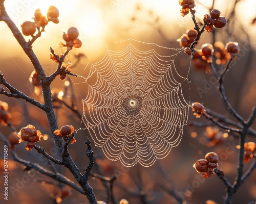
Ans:
[[[189,109],[189,70],[174,63],[182,50],[129,39],[101,48],[83,70],[82,120],[110,160],[151,166],[180,143]]]

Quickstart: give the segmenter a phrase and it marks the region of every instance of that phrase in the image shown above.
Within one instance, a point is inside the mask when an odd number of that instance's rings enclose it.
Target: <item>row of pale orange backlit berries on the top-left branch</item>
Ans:
[[[34,22],[32,21],[25,21],[22,25],[22,33],[26,36],[33,36],[36,32],[36,29],[42,28],[42,31],[44,31],[46,25],[49,21],[52,21],[54,23],[59,23],[59,10],[55,6],[50,6],[47,11],[47,17],[42,15],[40,9],[36,9],[34,13]]]

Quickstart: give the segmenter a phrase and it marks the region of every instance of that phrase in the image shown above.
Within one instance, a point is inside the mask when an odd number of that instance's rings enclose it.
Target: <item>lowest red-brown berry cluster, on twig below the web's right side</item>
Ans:
[[[196,161],[193,167],[198,173],[203,172],[203,177],[207,179],[211,174],[214,174],[214,169],[218,167],[219,156],[215,152],[209,152],[205,155],[205,159]]]

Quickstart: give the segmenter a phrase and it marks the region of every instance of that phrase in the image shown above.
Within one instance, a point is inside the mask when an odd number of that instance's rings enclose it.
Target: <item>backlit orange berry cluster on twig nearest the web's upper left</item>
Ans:
[[[82,41],[78,38],[79,32],[77,28],[71,27],[67,31],[67,33],[63,32],[62,38],[66,41],[66,44],[63,42],[59,42],[59,47],[67,47],[67,50],[71,50],[72,47],[79,48],[82,46]]]

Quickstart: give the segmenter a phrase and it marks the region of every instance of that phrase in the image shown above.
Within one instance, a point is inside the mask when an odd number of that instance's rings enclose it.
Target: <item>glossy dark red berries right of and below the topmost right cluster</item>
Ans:
[[[204,15],[204,23],[206,24],[206,31],[212,32],[212,27],[223,28],[227,24],[227,19],[220,16],[221,12],[218,9],[212,9],[210,14]]]

